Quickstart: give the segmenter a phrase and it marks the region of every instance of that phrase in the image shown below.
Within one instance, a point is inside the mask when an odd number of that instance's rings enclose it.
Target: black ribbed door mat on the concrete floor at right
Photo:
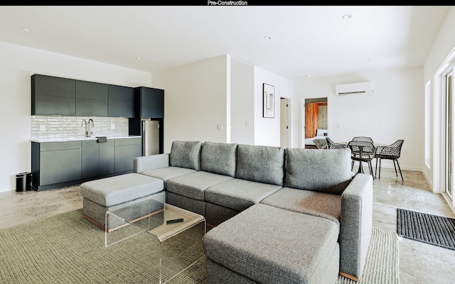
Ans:
[[[397,234],[455,250],[455,219],[397,208]]]

